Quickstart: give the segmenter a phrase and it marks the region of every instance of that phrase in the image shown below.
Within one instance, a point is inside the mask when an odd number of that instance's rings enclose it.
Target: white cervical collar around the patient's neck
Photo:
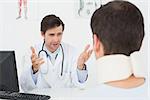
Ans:
[[[116,54],[99,58],[96,61],[98,83],[127,79],[132,74],[135,77],[144,77],[144,66],[139,63],[141,61],[138,61],[137,56],[138,52],[131,56]]]

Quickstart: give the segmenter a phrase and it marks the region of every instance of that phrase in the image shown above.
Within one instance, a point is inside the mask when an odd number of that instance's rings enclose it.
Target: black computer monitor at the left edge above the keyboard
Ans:
[[[19,92],[14,51],[0,51],[0,91]]]

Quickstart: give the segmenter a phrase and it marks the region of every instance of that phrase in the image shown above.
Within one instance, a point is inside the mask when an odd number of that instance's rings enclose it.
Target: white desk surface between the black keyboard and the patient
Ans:
[[[84,90],[78,88],[36,89],[31,91],[31,93],[35,94],[49,95],[52,100],[81,100],[83,98],[82,92]]]

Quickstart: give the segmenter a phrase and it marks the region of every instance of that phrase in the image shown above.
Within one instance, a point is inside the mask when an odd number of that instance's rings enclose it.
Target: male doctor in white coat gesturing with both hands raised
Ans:
[[[20,77],[21,88],[31,91],[40,88],[82,86],[88,77],[85,62],[92,50],[89,45],[78,57],[75,48],[61,42],[64,23],[55,15],[47,15],[41,22],[43,43],[31,47],[25,58],[25,70]]]

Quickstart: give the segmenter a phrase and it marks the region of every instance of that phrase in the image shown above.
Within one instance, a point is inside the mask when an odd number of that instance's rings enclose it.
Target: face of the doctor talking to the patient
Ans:
[[[55,52],[57,50],[61,43],[62,34],[62,25],[48,29],[45,33],[42,33],[42,36],[45,39],[46,48],[50,52]]]

